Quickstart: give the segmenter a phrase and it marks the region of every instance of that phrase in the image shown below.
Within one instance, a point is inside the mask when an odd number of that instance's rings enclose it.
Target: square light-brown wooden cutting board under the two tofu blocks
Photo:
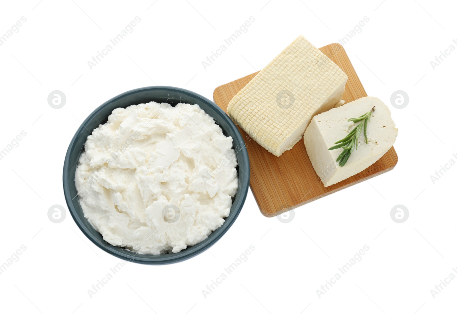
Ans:
[[[346,103],[367,96],[343,46],[339,43],[332,43],[319,48],[319,50],[335,64],[338,64],[348,76],[343,94],[343,100]],[[213,94],[216,104],[227,112],[228,102],[257,73],[259,72],[216,88]],[[276,216],[345,187],[380,175],[393,169],[398,161],[397,153],[392,147],[383,157],[362,172],[332,186],[324,187],[319,176],[314,171],[313,165],[311,165],[303,139],[295,144],[292,149],[287,150],[280,157],[276,157],[257,144],[241,128],[239,130],[243,135],[249,154],[250,186],[259,205],[260,212],[267,217]]]

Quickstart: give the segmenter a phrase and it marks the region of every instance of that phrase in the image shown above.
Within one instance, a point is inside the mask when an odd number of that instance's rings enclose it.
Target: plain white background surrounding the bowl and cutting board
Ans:
[[[451,44],[457,48],[450,1],[38,1],[3,2],[0,10],[0,35],[27,18],[0,46],[0,150],[27,133],[0,160],[0,264],[27,248],[0,275],[2,312],[455,312],[457,280],[435,298],[430,293],[457,275],[457,166],[430,179],[457,160],[457,51],[435,69],[430,64]],[[135,16],[134,31],[90,69],[92,56]],[[204,69],[202,61],[250,16],[248,31]],[[368,95],[392,111],[397,166],[295,209],[287,224],[264,217],[249,192],[209,251],[167,266],[128,263],[90,298],[88,289],[121,260],[92,244],[66,208],[62,167],[80,122],[142,86],[177,86],[212,99],[218,85],[262,69],[298,35],[322,47],[364,16],[369,22],[345,50]],[[48,105],[53,90],[67,97],[61,109]],[[390,103],[396,90],[409,95],[404,109]],[[60,224],[48,219],[54,204],[67,211]],[[390,216],[397,204],[409,209],[404,223]],[[248,260],[205,298],[202,289],[250,245]],[[316,290],[364,245],[363,259],[319,298]]]

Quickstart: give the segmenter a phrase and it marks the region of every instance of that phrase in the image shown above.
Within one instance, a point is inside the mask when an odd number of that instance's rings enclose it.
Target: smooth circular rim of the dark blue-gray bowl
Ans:
[[[81,133],[82,129],[85,128],[85,124],[89,120],[91,120],[93,117],[100,114],[101,110],[105,106],[109,105],[112,101],[116,101],[122,97],[126,97],[129,95],[138,93],[139,91],[144,91],[144,90],[168,90],[168,91],[176,92],[176,93],[181,92],[183,94],[188,94],[189,96],[200,98],[202,101],[207,102],[207,104],[212,106],[214,110],[218,111],[221,114],[221,117],[223,117],[228,122],[228,125],[230,126],[232,131],[234,131],[233,133],[235,134],[237,142],[239,142],[240,145],[242,146],[240,148],[241,155],[243,157],[243,160],[246,161],[245,162],[246,169],[244,169],[243,172],[244,172],[245,176],[247,176],[246,177],[247,180],[244,181],[243,185],[241,185],[241,186],[240,186],[240,184],[238,185],[237,194],[240,193],[241,197],[239,199],[238,208],[237,208],[236,212],[234,213],[234,215],[230,216],[230,214],[229,214],[228,217],[224,218],[225,222],[222,224],[222,226],[219,227],[218,229],[214,230],[210,234],[210,235],[214,234],[212,238],[210,238],[210,236],[208,236],[203,241],[197,243],[196,245],[188,246],[186,249],[181,250],[181,252],[179,252],[179,253],[170,253],[170,254],[164,254],[164,255],[143,255],[143,254],[130,255],[130,254],[124,253],[124,251],[130,251],[125,248],[121,248],[122,249],[121,251],[114,250],[113,248],[115,248],[115,247],[120,248],[120,247],[113,246],[113,245],[109,244],[108,242],[106,242],[105,240],[103,240],[104,243],[101,242],[91,233],[91,231],[88,228],[86,228],[85,224],[83,224],[82,221],[83,221],[83,219],[87,220],[87,218],[85,218],[84,216],[80,217],[80,215],[77,213],[76,209],[74,208],[73,202],[72,202],[73,199],[71,198],[71,195],[70,195],[70,192],[72,190],[71,187],[69,186],[70,156],[72,155],[72,153],[74,153],[73,150],[74,150],[75,142],[80,137],[80,135],[81,135],[80,133]],[[153,100],[151,100],[151,101],[153,101]],[[240,166],[239,163],[238,163],[238,166]],[[239,171],[238,171],[238,176],[239,176]],[[118,258],[121,258],[123,260],[126,260],[126,261],[131,261],[131,262],[136,262],[136,263],[141,263],[141,264],[149,264],[149,265],[160,265],[160,264],[171,264],[171,263],[176,263],[176,262],[180,262],[180,261],[185,261],[193,256],[196,256],[196,255],[202,253],[203,251],[207,250],[214,243],[216,243],[228,231],[228,229],[232,226],[232,224],[238,217],[239,212],[243,208],[244,201],[247,196],[249,182],[250,182],[250,163],[249,163],[249,156],[248,156],[247,149],[246,149],[246,144],[244,143],[244,139],[243,139],[241,133],[239,132],[238,128],[236,127],[236,125],[232,121],[232,119],[230,117],[228,117],[227,113],[225,113],[213,101],[207,99],[206,97],[204,97],[200,94],[197,94],[196,92],[193,92],[191,90],[186,90],[183,88],[179,88],[179,87],[165,86],[165,85],[146,86],[146,87],[136,88],[133,90],[128,90],[117,96],[112,97],[108,101],[105,101],[103,104],[98,106],[93,112],[91,112],[89,114],[88,117],[85,118],[85,120],[81,123],[80,127],[74,133],[74,136],[71,139],[71,142],[70,142],[67,152],[65,154],[62,179],[63,179],[65,201],[67,203],[69,212],[70,212],[74,222],[81,230],[81,232],[83,234],[85,234],[85,236],[88,239],[90,239],[90,241],[92,243],[94,243],[96,246],[98,246],[105,252],[107,252],[111,255],[114,255]],[[233,210],[233,204],[232,204],[232,208],[230,208],[230,213],[232,213],[232,210]],[[98,231],[96,230],[96,232],[98,232]],[[175,254],[179,254],[179,255],[175,255]],[[154,258],[148,258],[148,257],[144,257],[144,256],[154,256]]]

